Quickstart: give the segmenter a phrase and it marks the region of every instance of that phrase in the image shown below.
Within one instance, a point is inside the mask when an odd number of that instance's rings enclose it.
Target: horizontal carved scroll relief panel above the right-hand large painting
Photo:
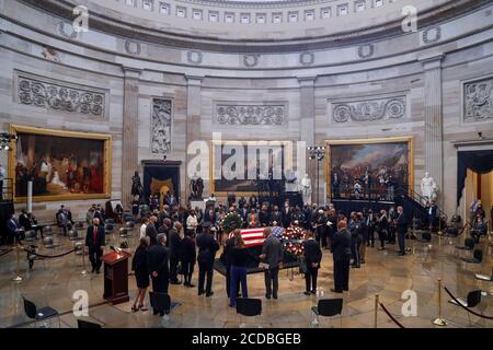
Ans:
[[[335,122],[399,119],[406,115],[405,96],[332,103]]]

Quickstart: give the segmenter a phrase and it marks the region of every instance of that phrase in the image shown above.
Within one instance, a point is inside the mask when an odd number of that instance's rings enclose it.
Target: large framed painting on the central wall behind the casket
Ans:
[[[221,141],[211,144],[210,191],[250,196],[280,192],[290,143],[284,141]]]

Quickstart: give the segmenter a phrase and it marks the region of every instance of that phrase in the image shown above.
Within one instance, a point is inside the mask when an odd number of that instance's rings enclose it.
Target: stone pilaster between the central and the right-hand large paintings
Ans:
[[[298,77],[300,97],[300,141],[306,143],[306,147],[314,144],[314,81],[317,77]],[[321,144],[317,144],[321,145]],[[305,149],[306,151],[306,149]],[[299,154],[297,154],[299,156]],[[319,174],[317,174],[317,161],[309,160],[309,154],[306,153],[306,170],[311,179],[311,201],[317,200],[317,176],[319,176],[319,201],[323,202],[323,162],[320,162]],[[302,178],[303,174],[299,174]]]

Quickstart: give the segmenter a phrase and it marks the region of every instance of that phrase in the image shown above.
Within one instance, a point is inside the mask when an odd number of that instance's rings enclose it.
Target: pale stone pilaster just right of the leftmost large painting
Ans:
[[[123,115],[123,156],[122,156],[122,202],[125,209],[131,206],[131,177],[138,171],[138,95],[141,70],[123,68],[124,115]],[[142,176],[141,176],[142,177]]]

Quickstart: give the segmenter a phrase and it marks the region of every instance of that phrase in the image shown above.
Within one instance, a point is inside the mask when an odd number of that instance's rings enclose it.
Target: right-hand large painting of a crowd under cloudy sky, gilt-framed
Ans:
[[[328,197],[393,201],[413,188],[411,137],[326,141]]]

